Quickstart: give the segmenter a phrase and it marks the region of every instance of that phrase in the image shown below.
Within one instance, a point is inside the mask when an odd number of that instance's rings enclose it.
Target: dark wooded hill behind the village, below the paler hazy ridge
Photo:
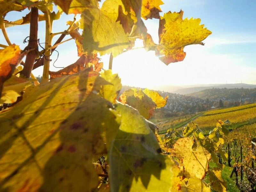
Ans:
[[[256,87],[256,86],[255,86]],[[244,88],[212,88],[205,89],[203,91],[187,94],[188,96],[197,97],[200,99],[217,100],[225,98],[225,100],[239,100],[240,98],[256,98],[256,88],[244,89]]]

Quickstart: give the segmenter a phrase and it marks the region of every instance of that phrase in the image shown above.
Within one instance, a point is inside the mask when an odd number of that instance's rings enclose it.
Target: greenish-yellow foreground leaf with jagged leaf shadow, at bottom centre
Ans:
[[[161,149],[147,122],[134,108],[117,104],[119,129],[111,134],[111,191],[169,191],[173,162]],[[110,181],[110,182],[111,182]]]

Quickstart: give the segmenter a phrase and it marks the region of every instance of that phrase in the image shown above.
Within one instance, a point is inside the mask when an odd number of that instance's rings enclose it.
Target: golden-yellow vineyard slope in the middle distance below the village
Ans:
[[[229,130],[233,130],[244,125],[251,125],[256,123],[256,103],[243,105],[238,107],[216,109],[206,111],[204,113],[192,114],[183,117],[175,117],[170,119],[163,119],[162,121],[155,120],[159,133],[165,133],[168,129],[182,128],[187,123],[194,121],[199,128],[204,131],[204,134],[215,127],[218,120],[229,120],[230,124],[226,125]]]

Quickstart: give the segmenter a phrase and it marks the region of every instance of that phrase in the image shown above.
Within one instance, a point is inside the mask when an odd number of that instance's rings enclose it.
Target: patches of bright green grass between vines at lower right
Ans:
[[[217,167],[215,163],[209,163],[210,169]],[[227,191],[228,192],[240,192],[239,188],[236,186],[236,176],[235,173],[233,174],[232,178],[230,178],[230,174],[233,170],[233,167],[225,166],[224,169],[221,171],[221,177],[227,183]],[[206,183],[210,183],[209,175],[206,175],[204,181]],[[212,190],[213,191],[213,190]]]

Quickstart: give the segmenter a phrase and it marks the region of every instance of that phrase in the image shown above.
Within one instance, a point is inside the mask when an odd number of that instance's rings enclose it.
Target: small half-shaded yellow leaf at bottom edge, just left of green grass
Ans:
[[[212,171],[209,172],[211,186],[215,191],[218,192],[226,192],[227,184],[221,178],[221,170],[218,167],[213,168]]]

